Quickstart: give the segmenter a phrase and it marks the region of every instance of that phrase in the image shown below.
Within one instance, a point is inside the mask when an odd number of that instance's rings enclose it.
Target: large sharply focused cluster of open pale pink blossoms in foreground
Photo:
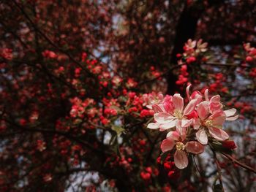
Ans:
[[[149,123],[148,128],[159,131],[168,130],[166,139],[162,141],[163,153],[175,150],[174,163],[178,169],[188,165],[188,153],[203,153],[209,141],[225,141],[228,134],[222,130],[225,120],[236,120],[236,109],[223,110],[220,96],[208,97],[208,90],[203,95],[194,91],[189,95],[188,104],[184,107],[184,99],[180,94],[165,96],[158,104],[153,104],[155,123]]]

